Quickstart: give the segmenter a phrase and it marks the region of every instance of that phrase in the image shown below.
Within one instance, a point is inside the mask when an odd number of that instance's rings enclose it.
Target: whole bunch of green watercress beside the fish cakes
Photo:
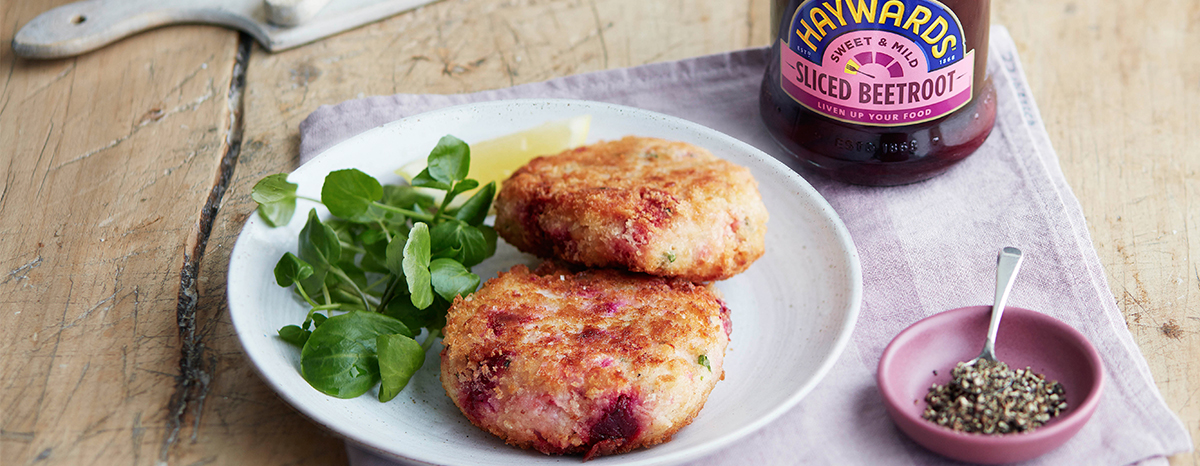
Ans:
[[[391,400],[421,368],[455,297],[479,287],[470,268],[496,253],[496,231],[484,225],[496,184],[451,210],[455,197],[479,187],[469,168],[470,148],[445,136],[410,186],[382,185],[354,168],[329,173],[320,199],[296,195],[286,174],[254,185],[258,215],[272,227],[292,220],[298,199],[334,215],[322,221],[310,210],[298,252],[275,265],[276,283],[310,307],[299,325],[278,333],[300,347],[300,374],[313,388],[355,398],[379,384],[379,401]],[[436,203],[414,186],[445,196]]]

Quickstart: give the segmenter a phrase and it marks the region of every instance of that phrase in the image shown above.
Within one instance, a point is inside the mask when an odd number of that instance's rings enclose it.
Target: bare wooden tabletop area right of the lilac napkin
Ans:
[[[994,1],[1117,306],[1200,444],[1200,2]],[[1171,459],[1200,464],[1200,448]]]

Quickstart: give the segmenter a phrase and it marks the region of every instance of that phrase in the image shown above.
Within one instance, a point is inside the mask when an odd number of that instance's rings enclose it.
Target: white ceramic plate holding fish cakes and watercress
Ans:
[[[428,155],[438,138],[479,142],[545,121],[592,115],[589,142],[628,135],[684,141],[749,167],[770,221],[767,253],[750,269],[718,283],[732,311],[733,335],[725,381],[695,422],[674,440],[649,449],[604,456],[589,465],[668,465],[692,460],[762,428],[793,407],[829,371],[850,339],[862,299],[862,271],[850,234],[833,208],[806,183],[762,151],[697,124],[599,102],[518,100],[430,112],[383,125],[335,145],[289,175],[299,193],[320,197],[326,173],[354,167],[382,183]],[[314,204],[301,201],[284,227],[251,216],[229,262],[229,312],[246,354],[292,406],[347,440],[397,459],[436,465],[578,465],[577,456],[546,456],[505,446],[472,425],[438,381],[440,343],[395,400],[376,390],[353,400],[320,394],[300,377],[300,351],[276,331],[304,319],[306,307],[271,273]],[[328,213],[318,207],[318,211]],[[536,263],[511,246],[476,267],[484,279],[515,263]]]

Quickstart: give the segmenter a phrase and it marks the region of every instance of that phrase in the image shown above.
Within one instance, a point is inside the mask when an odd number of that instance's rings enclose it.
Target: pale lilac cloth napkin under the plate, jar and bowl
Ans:
[[[986,143],[932,180],[863,187],[802,172],[850,229],[863,267],[863,306],[845,354],[796,408],[696,465],[836,465],[953,461],[904,436],[875,387],[884,346],[948,309],[992,300],[995,255],[1026,253],[1009,305],[1057,317],[1086,335],[1106,386],[1092,420],[1031,464],[1162,462],[1192,441],[1166,407],[1117,310],[1078,201],[1050,145],[1008,31],[992,28],[988,72],[998,114]],[[301,161],[361,131],[452,104],[500,98],[583,98],[689,119],[772,155],[782,150],[758,116],[764,49],[601,71],[466,95],[394,95],[320,107],[300,125]],[[947,283],[967,283],[947,286]],[[359,466],[389,465],[355,446]]]

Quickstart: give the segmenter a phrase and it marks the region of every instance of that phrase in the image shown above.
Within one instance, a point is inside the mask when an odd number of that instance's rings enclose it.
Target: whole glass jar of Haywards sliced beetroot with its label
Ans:
[[[774,0],[760,107],[788,156],[890,186],[946,172],[996,121],[990,0]]]

